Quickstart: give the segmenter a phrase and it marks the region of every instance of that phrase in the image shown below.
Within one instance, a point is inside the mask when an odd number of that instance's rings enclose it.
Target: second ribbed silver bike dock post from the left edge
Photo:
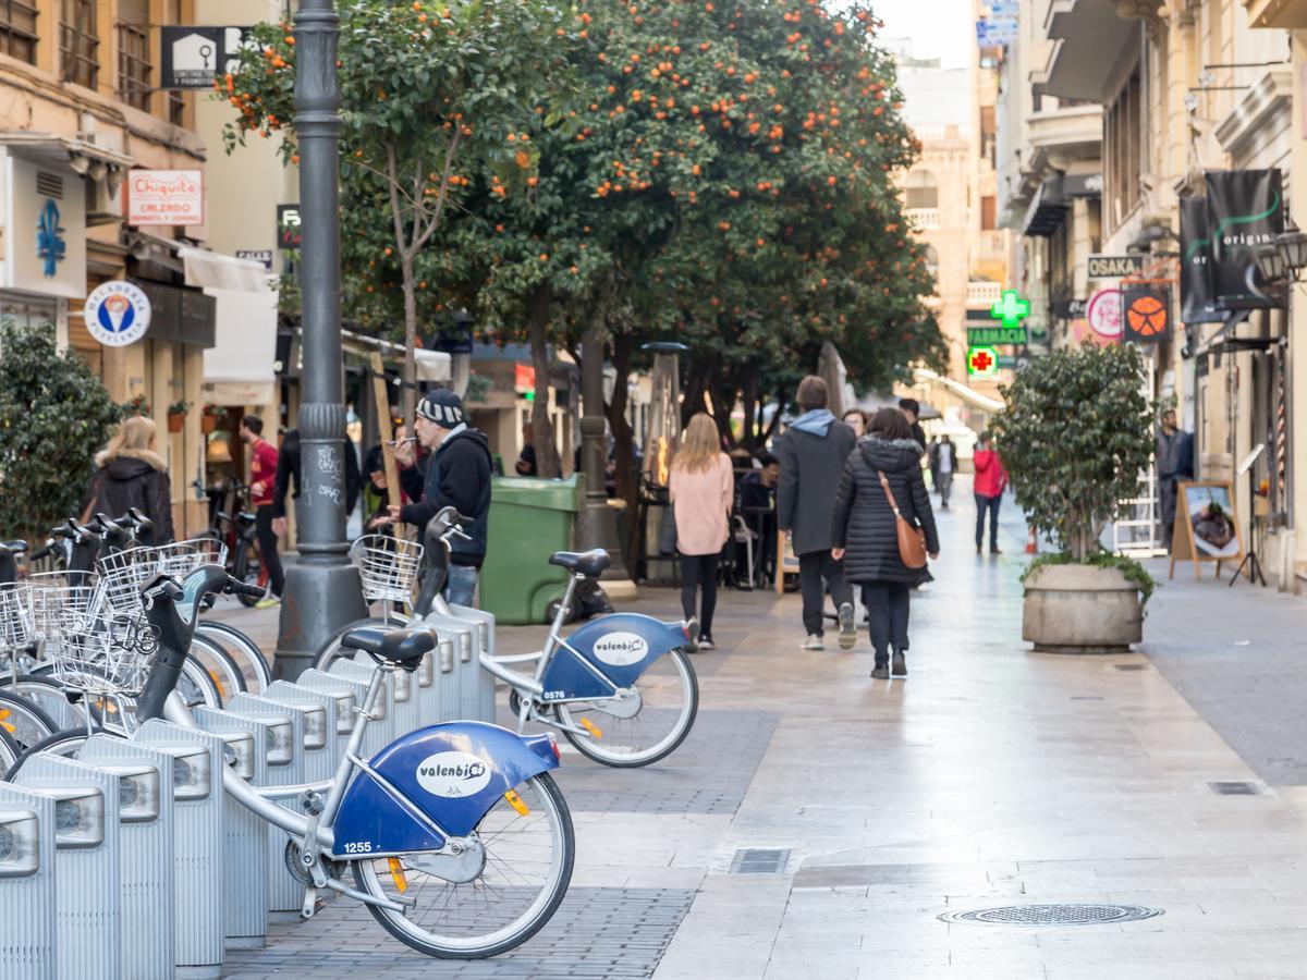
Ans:
[[[94,767],[39,753],[18,785],[55,801],[55,894],[59,975],[116,980],[123,975],[123,906],[118,787]]]

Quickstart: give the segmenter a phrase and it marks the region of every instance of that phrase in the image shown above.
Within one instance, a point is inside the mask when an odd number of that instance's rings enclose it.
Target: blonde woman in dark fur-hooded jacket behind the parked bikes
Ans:
[[[154,451],[158,430],[145,416],[124,418],[103,451],[95,453],[95,480],[82,502],[82,516],[122,517],[136,507],[154,521],[157,545],[173,540],[173,491],[167,464]]]

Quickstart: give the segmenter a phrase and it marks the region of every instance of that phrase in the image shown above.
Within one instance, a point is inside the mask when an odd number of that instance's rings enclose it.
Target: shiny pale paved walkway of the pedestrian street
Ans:
[[[796,596],[723,593],[720,649],[695,659],[702,713],[681,750],[634,772],[566,758],[574,886],[521,949],[433,963],[337,902],[278,925],[267,950],[230,954],[229,975],[1307,977],[1307,822],[1299,791],[1281,788],[1303,781],[1302,742],[1255,698],[1287,707],[1278,690],[1300,677],[1291,627],[1304,608],[1246,585],[1176,584],[1154,600],[1148,656],[1034,655],[1019,642],[1023,528],[1010,499],[1004,510],[999,558],[975,555],[968,500],[942,517],[906,682],[868,678],[865,636],[853,653],[800,651]],[[646,591],[637,608],[674,606],[669,591]],[[505,630],[501,645],[540,634]],[[1231,689],[1236,665],[1247,677]],[[741,866],[746,849],[786,853],[767,873],[759,855]],[[1162,915],[1065,928],[938,919],[1043,903]]]

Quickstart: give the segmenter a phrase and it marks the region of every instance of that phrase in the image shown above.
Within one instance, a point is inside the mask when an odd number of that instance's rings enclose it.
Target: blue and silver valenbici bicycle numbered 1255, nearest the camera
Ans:
[[[137,700],[144,721],[195,721],[175,687],[201,604],[250,585],[221,566],[142,591],[157,653]],[[431,956],[493,956],[531,938],[571,879],[575,838],[549,775],[552,736],[523,737],[480,721],[412,732],[371,759],[359,755],[386,674],[413,672],[437,645],[429,627],[358,629],[342,638],[376,662],[336,775],[323,784],[256,788],[230,767],[226,792],[289,838],[286,864],[305,885],[302,913],[335,891],[362,902],[395,938]],[[303,813],[277,800],[297,798]],[[353,883],[349,883],[353,879]]]

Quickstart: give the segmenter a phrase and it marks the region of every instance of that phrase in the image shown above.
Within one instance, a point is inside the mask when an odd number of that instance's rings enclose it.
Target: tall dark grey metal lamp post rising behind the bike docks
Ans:
[[[332,0],[295,14],[295,136],[303,222],[299,562],[286,570],[276,666],[294,679],[345,623],[367,615],[345,544],[345,401],[340,346],[340,18]]]

